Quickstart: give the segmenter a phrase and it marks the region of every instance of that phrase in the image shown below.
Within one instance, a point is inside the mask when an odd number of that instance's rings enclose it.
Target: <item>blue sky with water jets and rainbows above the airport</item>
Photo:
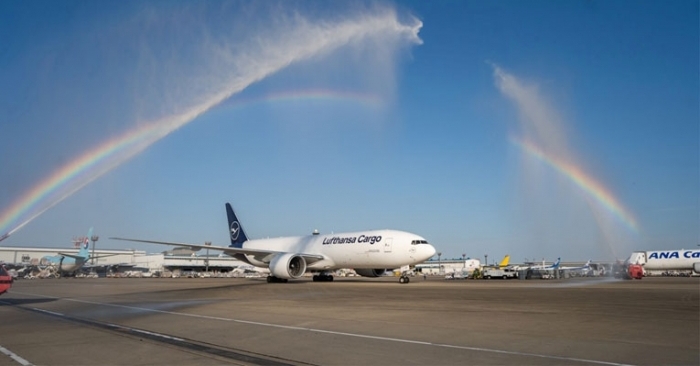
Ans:
[[[3,2],[2,245],[67,247],[90,226],[102,248],[227,245],[231,202],[254,238],[392,228],[443,258],[696,247],[698,15]]]

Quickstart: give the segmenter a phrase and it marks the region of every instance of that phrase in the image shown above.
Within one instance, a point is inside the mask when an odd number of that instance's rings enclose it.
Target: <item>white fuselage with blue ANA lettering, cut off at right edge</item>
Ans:
[[[654,250],[634,252],[627,259],[629,264],[639,264],[650,271],[693,270],[700,263],[700,250]]]

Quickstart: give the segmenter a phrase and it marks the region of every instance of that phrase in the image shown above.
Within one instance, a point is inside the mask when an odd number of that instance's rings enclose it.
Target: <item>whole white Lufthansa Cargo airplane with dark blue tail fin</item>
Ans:
[[[273,239],[248,239],[231,204],[226,204],[231,245],[228,247],[110,238],[140,243],[221,250],[256,267],[268,268],[267,282],[287,282],[306,272],[318,273],[314,281],[333,281],[331,271],[353,268],[364,277],[379,277],[394,268],[421,263],[435,255],[424,238],[405,231],[371,230],[331,235],[307,235]],[[399,283],[408,283],[402,273]]]

